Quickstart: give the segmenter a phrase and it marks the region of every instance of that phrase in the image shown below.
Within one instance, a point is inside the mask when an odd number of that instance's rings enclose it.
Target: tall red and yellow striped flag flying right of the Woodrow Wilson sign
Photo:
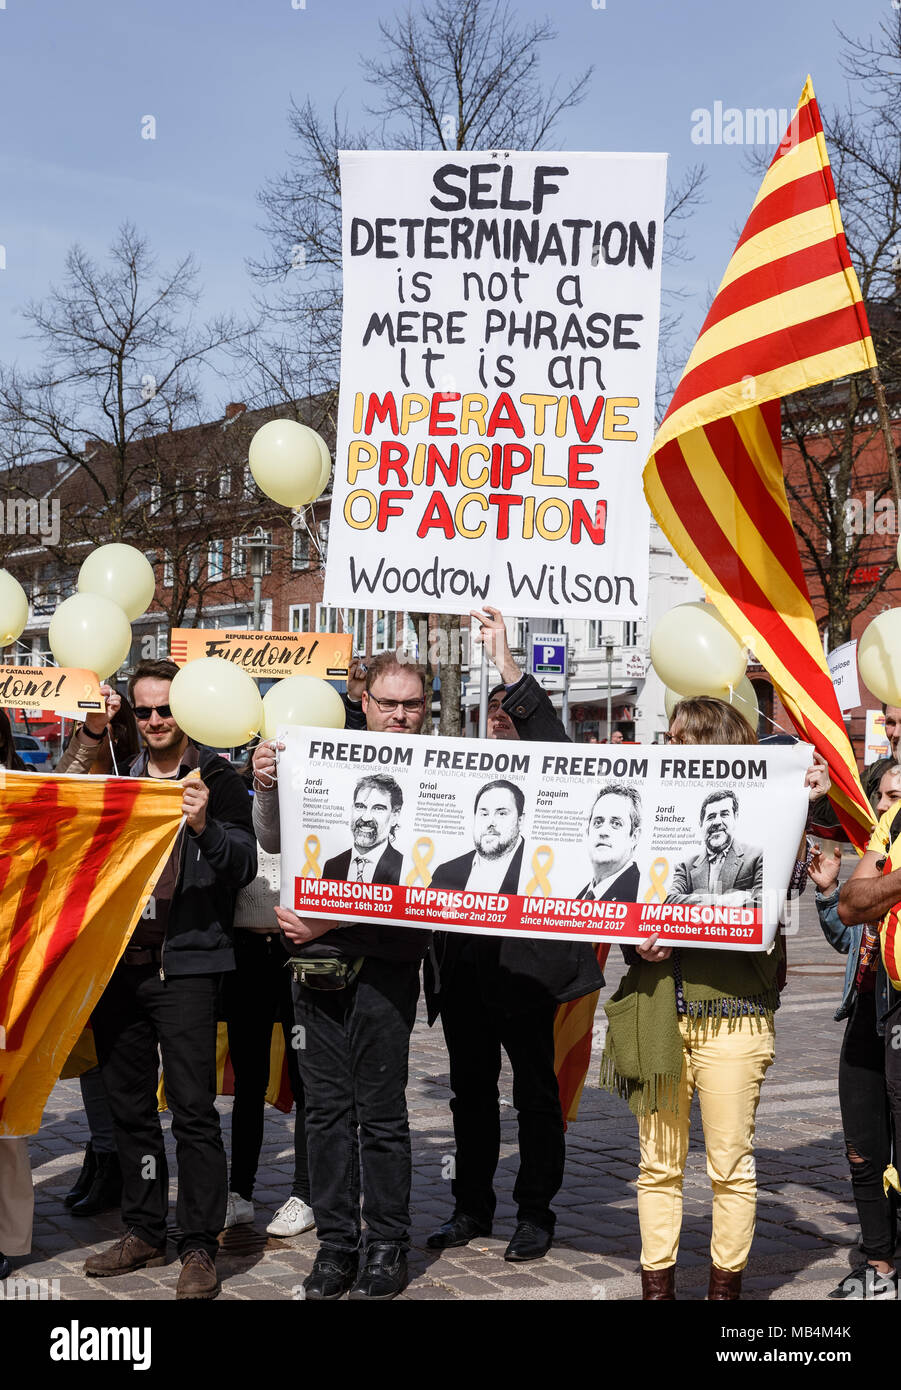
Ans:
[[[808,78],[644,474],[648,505],[736,635],[769,671],[831,799],[863,845],[863,795],[791,523],[780,396],[876,364]]]

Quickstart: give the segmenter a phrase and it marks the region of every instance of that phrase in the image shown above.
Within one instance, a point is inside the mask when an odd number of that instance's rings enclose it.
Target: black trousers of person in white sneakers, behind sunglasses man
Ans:
[[[295,1098],[295,1173],[291,1191],[302,1201],[310,1201],[303,1083],[293,1045],[296,1038],[291,981],[288,955],[277,934],[235,931],[235,969],[222,979],[222,1017],[228,1026],[228,1051],[235,1073],[231,1191],[246,1201],[253,1197],[263,1145],[274,1023],[281,1023],[285,1034],[288,1079]]]

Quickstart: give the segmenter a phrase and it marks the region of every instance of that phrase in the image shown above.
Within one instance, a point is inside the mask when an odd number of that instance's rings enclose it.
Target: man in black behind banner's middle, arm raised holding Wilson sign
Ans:
[[[489,695],[488,737],[569,741],[545,692],[513,662],[501,613],[487,609],[474,617],[482,624],[482,639],[505,682]],[[442,887],[437,880],[438,872],[432,887]],[[517,888],[505,880],[499,891]],[[474,1236],[491,1232],[503,1048],[513,1069],[520,1147],[513,1188],[517,1226],[505,1259],[539,1259],[553,1238],[551,1202],[563,1182],[566,1161],[553,1017],[558,1004],[594,994],[603,984],[595,951],[583,941],[444,931],[434,935],[424,974],[428,1022],[441,1013],[450,1058],[456,1143],[453,1215],[427,1244],[432,1250],[466,1245]]]

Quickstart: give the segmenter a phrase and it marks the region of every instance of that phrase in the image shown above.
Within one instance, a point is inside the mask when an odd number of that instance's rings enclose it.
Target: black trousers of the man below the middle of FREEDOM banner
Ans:
[[[441,1022],[450,1056],[456,1176],[455,1209],[491,1225],[494,1175],[501,1154],[498,1077],[501,1048],[513,1068],[520,1166],[513,1187],[517,1220],[552,1232],[551,1202],[563,1182],[566,1141],[553,1070],[555,1004],[502,1013],[482,1004],[476,967],[460,960],[441,991]]]

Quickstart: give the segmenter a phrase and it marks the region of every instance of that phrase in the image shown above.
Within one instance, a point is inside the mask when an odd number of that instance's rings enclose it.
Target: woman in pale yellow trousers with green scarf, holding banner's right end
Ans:
[[[756,744],[748,721],[723,701],[681,701],[669,731],[673,744]],[[829,787],[825,767],[808,770],[811,799]],[[761,890],[761,853],[734,840],[736,798],[708,798],[708,856],[702,890]],[[705,802],[706,806],[706,802]],[[702,813],[704,815],[704,813]],[[699,870],[701,872],[701,870]],[[685,883],[694,901],[697,883]],[[691,1101],[698,1093],[706,1169],[713,1188],[708,1298],[736,1300],[756,1218],[754,1126],[761,1083],[773,1061],[781,937],[769,951],[680,951],[658,934],[626,949],[630,970],[606,1005],[608,1038],[601,1084],[628,1098],[638,1119],[641,1162],[641,1293],[676,1297]]]

